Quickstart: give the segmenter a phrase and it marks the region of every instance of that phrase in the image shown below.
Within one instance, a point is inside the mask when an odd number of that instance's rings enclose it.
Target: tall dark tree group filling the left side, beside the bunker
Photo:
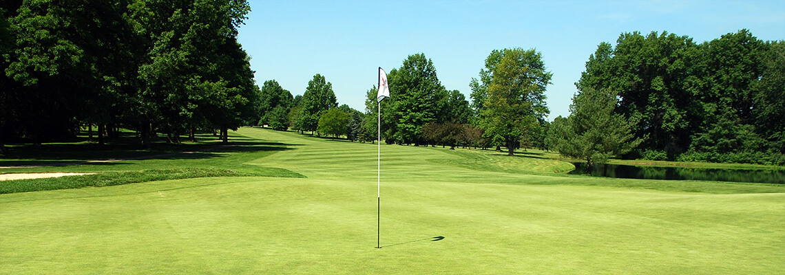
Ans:
[[[97,126],[144,147],[256,121],[260,100],[237,28],[244,0],[7,1],[0,5],[0,144]],[[3,147],[5,148],[5,147]],[[5,149],[4,149],[5,150]]]

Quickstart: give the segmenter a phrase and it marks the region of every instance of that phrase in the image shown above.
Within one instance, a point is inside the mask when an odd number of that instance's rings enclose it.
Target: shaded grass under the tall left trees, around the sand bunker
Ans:
[[[96,143],[48,143],[41,146],[16,146],[12,156],[0,159],[0,173],[90,172],[49,179],[19,179],[0,182],[0,194],[114,186],[167,179],[191,179],[221,176],[304,177],[263,163],[246,165],[246,161],[287,150],[283,143],[266,143],[243,136],[232,136],[232,143],[222,144],[211,136],[198,143],[155,143],[141,150],[130,143],[100,147]],[[21,166],[20,166],[21,165]],[[13,167],[17,166],[17,167]]]

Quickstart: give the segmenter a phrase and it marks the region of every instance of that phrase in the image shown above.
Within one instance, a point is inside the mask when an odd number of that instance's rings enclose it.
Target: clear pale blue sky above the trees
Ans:
[[[553,85],[549,120],[568,116],[575,81],[600,42],[619,34],[668,31],[700,43],[746,28],[785,40],[785,1],[270,1],[250,0],[239,42],[257,84],[275,79],[301,95],[314,74],[333,85],[339,104],[365,108],[377,68],[407,56],[433,60],[442,85],[469,100],[493,49],[542,52]],[[395,96],[395,91],[390,91]]]

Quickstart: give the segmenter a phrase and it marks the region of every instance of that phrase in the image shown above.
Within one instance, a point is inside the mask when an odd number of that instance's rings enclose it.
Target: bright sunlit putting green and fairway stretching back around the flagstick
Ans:
[[[783,186],[597,179],[557,173],[569,164],[535,154],[382,145],[382,248],[376,249],[375,144],[260,128],[235,134],[286,147],[255,159],[235,157],[243,161],[239,170],[280,168],[306,178],[213,177],[0,194],[0,273],[785,270]],[[71,172],[68,166],[47,171]]]

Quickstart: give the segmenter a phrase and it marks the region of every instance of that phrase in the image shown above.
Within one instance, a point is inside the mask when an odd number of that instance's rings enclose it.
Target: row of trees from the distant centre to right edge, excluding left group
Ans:
[[[393,96],[382,103],[382,137],[415,146],[505,147],[508,154],[536,147],[590,165],[609,157],[785,165],[783,56],[783,42],[747,30],[700,44],[665,31],[624,33],[616,45],[597,46],[575,83],[571,114],[549,122],[552,74],[540,52],[492,51],[470,82],[470,104],[441,85],[432,60],[414,54],[388,74]],[[374,141],[375,96],[374,85],[364,113],[343,106],[330,114],[344,124],[337,133]],[[319,131],[314,109],[292,102],[289,125]],[[338,106],[329,102],[319,115]],[[284,113],[277,114],[281,129]]]

